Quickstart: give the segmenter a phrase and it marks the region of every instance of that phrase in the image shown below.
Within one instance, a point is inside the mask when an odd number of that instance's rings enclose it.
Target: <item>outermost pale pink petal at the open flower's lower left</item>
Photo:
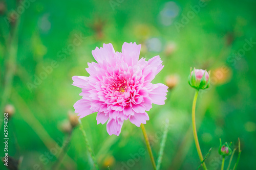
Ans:
[[[75,113],[78,113],[79,118],[85,117],[89,114],[94,113],[93,110],[91,110],[91,101],[86,99],[80,99],[74,104]]]

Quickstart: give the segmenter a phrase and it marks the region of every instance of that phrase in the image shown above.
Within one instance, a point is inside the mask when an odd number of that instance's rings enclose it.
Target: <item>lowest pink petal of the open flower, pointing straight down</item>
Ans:
[[[122,126],[123,121],[117,121],[117,119],[109,119],[108,123],[106,124],[106,131],[109,133],[109,135],[114,134],[119,136]]]

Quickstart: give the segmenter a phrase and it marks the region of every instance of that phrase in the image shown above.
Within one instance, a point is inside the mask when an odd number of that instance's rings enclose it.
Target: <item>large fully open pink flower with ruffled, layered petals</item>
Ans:
[[[139,60],[141,45],[123,43],[122,53],[115,52],[113,45],[103,44],[92,51],[98,63],[88,63],[89,77],[74,76],[73,85],[82,89],[82,99],[74,104],[80,118],[97,113],[97,124],[104,124],[110,135],[119,135],[124,120],[140,127],[149,120],[146,111],[152,103],[163,105],[167,86],[152,84],[163,68],[159,56]]]

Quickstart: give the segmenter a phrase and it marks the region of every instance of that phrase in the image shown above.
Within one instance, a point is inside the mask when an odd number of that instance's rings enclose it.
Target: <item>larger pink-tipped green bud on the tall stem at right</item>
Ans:
[[[210,85],[210,76],[206,70],[194,68],[192,71],[192,68],[190,68],[188,83],[193,88],[206,89]]]

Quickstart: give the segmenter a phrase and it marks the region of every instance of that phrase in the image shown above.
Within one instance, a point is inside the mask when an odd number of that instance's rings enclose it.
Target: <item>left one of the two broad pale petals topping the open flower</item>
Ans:
[[[95,50],[92,51],[93,57],[95,60],[102,64],[105,60],[106,62],[110,62],[111,59],[115,56],[116,52],[114,50],[114,47],[111,43],[109,44],[103,44],[103,47],[96,47]]]

